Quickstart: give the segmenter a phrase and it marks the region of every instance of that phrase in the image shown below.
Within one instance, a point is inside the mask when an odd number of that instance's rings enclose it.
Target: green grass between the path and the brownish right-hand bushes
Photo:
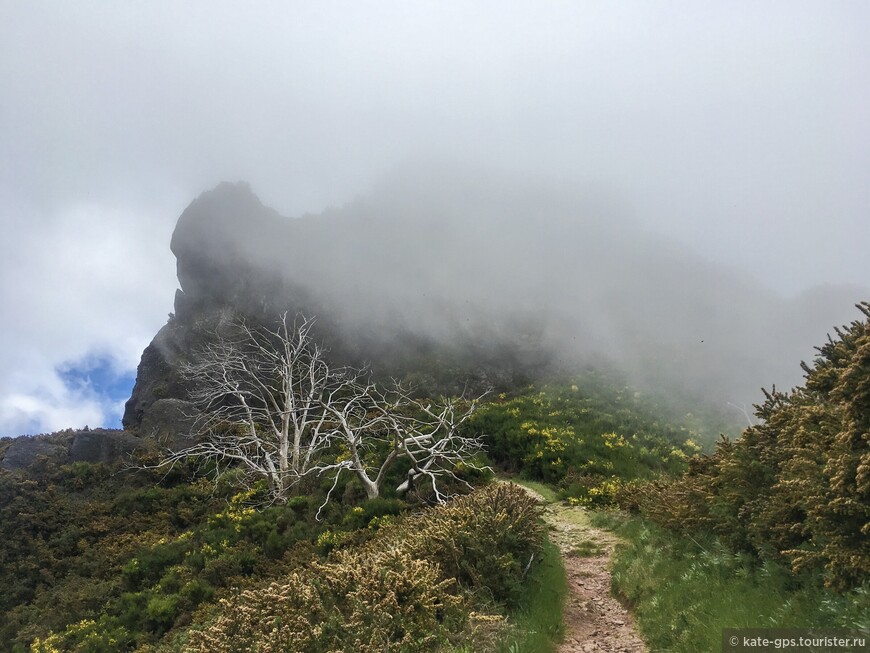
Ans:
[[[713,537],[684,538],[639,518],[592,516],[628,542],[618,547],[613,590],[653,651],[719,650],[723,628],[870,627],[868,587],[835,594],[817,578],[727,550]]]

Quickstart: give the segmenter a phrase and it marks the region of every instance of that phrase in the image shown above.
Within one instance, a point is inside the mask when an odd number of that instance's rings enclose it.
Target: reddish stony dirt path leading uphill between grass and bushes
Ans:
[[[631,615],[610,596],[610,558],[618,538],[593,527],[581,508],[545,503],[544,520],[562,551],[568,577],[565,641],[559,653],[646,653]]]

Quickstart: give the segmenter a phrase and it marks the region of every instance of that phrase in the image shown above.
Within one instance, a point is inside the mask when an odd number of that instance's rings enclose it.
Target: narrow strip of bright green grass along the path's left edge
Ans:
[[[540,563],[530,570],[528,591],[510,615],[513,624],[497,653],[553,653],[562,640],[562,607],[568,594],[565,566],[559,549],[549,538]]]

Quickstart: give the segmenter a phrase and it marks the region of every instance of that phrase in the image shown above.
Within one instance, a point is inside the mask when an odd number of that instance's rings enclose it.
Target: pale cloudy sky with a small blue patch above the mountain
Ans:
[[[175,221],[427,157],[600,188],[783,295],[870,281],[870,3],[0,0],[0,435],[117,426]]]

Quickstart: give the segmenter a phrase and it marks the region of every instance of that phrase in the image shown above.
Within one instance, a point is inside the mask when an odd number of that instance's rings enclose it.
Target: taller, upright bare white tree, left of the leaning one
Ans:
[[[285,313],[275,330],[241,320],[219,328],[181,369],[201,411],[191,433],[196,443],[171,451],[160,465],[208,460],[219,473],[233,467],[246,481],[266,479],[273,499],[286,499],[329,447],[321,406],[341,377],[314,339],[313,324]]]

